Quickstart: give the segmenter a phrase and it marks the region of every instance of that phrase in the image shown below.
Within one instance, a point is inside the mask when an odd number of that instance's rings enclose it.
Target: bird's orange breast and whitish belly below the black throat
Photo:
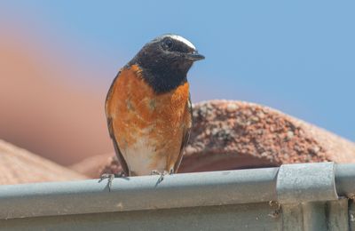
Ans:
[[[106,114],[113,118],[114,136],[130,171],[170,171],[180,152],[183,131],[191,125],[188,83],[156,94],[134,65],[117,77]]]

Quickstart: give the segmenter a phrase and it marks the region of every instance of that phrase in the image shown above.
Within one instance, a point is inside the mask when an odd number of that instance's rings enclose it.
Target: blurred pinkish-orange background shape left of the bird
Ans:
[[[106,84],[71,57],[47,49],[26,28],[2,30],[0,138],[58,163],[112,151],[106,131]]]

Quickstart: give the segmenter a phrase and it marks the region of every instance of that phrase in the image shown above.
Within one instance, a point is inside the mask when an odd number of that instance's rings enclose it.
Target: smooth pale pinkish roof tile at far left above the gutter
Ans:
[[[87,179],[86,176],[69,170],[15,147],[0,139],[0,185]]]

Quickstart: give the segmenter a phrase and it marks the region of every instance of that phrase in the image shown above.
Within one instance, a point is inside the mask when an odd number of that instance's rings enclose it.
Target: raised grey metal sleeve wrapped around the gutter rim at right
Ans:
[[[279,203],[336,200],[335,163],[284,164],[277,178]]]

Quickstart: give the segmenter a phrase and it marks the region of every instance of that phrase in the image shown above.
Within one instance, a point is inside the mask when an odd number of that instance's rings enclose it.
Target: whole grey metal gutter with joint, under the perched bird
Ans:
[[[177,230],[355,230],[355,206],[348,203],[355,195],[353,163],[285,164],[158,179],[114,179],[111,192],[105,180],[97,179],[0,186],[0,227],[94,229],[95,222],[106,220],[100,229],[164,230],[175,224]],[[186,225],[190,221],[195,227]]]

